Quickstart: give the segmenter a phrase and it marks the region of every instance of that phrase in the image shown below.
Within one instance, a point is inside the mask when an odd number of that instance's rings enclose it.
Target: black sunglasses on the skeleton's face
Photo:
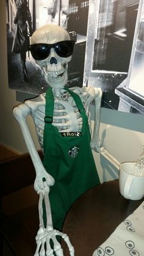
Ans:
[[[57,43],[34,43],[34,45],[29,45],[28,49],[31,51],[32,57],[35,60],[44,60],[49,56],[51,48],[54,48],[57,55],[60,57],[69,57],[73,54],[74,47],[73,40],[61,41]]]

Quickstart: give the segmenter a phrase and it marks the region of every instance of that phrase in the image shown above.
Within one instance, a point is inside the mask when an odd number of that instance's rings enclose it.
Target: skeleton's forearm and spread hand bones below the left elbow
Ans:
[[[37,236],[35,237],[36,243],[37,243],[37,249],[35,251],[34,256],[52,256],[54,255],[53,252],[56,252],[57,256],[63,256],[62,247],[60,246],[59,241],[57,241],[57,236],[61,236],[65,243],[67,243],[70,255],[74,256],[74,248],[70,243],[70,240],[68,236],[62,232],[59,232],[59,230],[55,230],[52,227],[52,219],[51,219],[51,206],[49,203],[49,187],[46,185],[45,181],[45,188],[43,190],[39,190],[38,194],[39,197],[39,203],[38,203],[38,211],[39,211],[39,219],[40,219],[40,228],[37,232]],[[46,227],[43,224],[43,207],[42,202],[43,199],[45,200],[45,206],[46,206],[46,217],[47,217],[47,223]],[[53,249],[50,245],[50,240],[52,240],[54,246]]]

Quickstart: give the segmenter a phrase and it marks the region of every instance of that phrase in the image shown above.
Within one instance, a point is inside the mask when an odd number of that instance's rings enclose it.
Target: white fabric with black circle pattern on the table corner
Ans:
[[[92,256],[144,256],[144,201]]]

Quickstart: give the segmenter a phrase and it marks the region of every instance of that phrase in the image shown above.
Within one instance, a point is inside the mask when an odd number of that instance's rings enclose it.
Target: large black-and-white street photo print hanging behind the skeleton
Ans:
[[[132,112],[135,105],[131,109],[120,108],[118,88],[123,83],[125,86],[128,78],[140,2],[143,1],[6,0],[9,88],[34,95],[46,91],[41,69],[27,45],[36,29],[58,24],[76,42],[68,64],[68,87],[101,87],[104,108]],[[142,112],[139,108],[137,111]]]

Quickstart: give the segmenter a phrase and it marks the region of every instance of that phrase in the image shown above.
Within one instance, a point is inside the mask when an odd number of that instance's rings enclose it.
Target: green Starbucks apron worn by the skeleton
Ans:
[[[74,200],[87,189],[99,184],[90,147],[91,136],[84,106],[79,95],[70,89],[65,88],[65,90],[73,97],[81,113],[81,133],[60,133],[57,127],[52,125],[54,95],[49,87],[46,92],[43,136],[43,165],[55,180],[55,185],[51,186],[49,192],[52,222],[54,229],[59,230],[62,229],[65,216]],[[43,219],[46,223],[46,216],[43,216]]]

